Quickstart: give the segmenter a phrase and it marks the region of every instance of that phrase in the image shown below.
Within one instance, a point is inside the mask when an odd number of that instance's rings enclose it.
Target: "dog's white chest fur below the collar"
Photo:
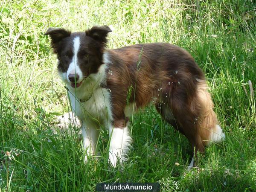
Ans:
[[[112,120],[110,93],[105,88],[98,88],[85,102],[81,102],[74,94],[70,94],[70,102],[73,112],[82,121],[95,120],[104,123]]]

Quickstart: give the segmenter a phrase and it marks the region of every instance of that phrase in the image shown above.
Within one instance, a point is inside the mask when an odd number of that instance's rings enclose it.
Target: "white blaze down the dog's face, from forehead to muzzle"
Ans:
[[[68,79],[69,74],[77,74],[79,75],[79,80],[77,81],[78,83],[80,81],[82,81],[83,79],[83,73],[81,71],[81,69],[78,66],[78,58],[77,58],[77,53],[79,51],[79,47],[80,47],[80,38],[79,37],[75,37],[73,40],[73,58],[72,61],[67,69],[67,81],[70,82],[70,80]]]

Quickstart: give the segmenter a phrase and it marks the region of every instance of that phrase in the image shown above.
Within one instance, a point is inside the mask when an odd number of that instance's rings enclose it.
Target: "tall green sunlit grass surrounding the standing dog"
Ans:
[[[255,191],[255,6],[253,0],[1,1],[0,191],[94,191],[99,182]],[[133,116],[133,149],[123,170],[108,166],[105,129],[99,161],[84,164],[79,130],[52,125],[69,107],[44,32],[105,24],[113,29],[110,48],[170,42],[187,49],[204,70],[226,140],[207,148],[199,169],[186,172],[188,141],[151,105]]]

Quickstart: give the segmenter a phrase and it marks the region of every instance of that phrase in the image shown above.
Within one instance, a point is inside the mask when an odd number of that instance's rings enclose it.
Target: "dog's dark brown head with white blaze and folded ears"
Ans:
[[[85,32],[70,32],[49,28],[51,47],[58,57],[58,72],[70,87],[78,88],[103,64],[102,55],[107,43],[108,26],[93,26]]]

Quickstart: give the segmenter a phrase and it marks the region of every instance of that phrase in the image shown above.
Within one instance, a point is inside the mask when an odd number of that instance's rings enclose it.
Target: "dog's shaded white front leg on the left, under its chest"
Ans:
[[[82,136],[85,150],[84,163],[86,163],[88,156],[93,156],[96,152],[96,144],[99,138],[99,128],[83,122]]]

